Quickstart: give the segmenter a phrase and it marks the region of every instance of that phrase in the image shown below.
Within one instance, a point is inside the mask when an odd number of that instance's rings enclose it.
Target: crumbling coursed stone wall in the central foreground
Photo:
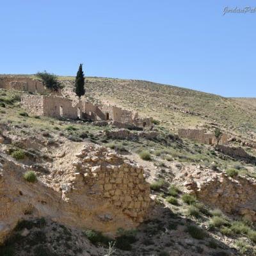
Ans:
[[[143,168],[103,147],[86,147],[73,164],[83,174],[87,194],[142,222],[149,206],[150,188]]]

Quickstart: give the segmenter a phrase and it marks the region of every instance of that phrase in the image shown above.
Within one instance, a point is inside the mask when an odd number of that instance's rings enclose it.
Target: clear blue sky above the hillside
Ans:
[[[256,97],[256,1],[1,1],[0,74],[47,70]],[[247,9],[248,10],[248,9]]]

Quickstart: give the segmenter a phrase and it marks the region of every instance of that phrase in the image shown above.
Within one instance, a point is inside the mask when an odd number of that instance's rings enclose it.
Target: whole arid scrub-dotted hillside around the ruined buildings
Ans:
[[[35,115],[24,95],[39,94],[0,89],[1,256],[256,255],[254,100],[86,78],[84,100],[153,118],[141,127]],[[177,135],[216,127],[227,145]]]

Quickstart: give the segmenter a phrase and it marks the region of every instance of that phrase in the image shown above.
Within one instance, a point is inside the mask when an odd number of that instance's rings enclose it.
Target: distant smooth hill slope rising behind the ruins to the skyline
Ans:
[[[71,95],[75,77],[59,78],[65,84],[65,95]],[[256,141],[253,98],[225,98],[177,86],[104,77],[86,77],[86,97],[152,116],[172,131],[214,123],[230,134]]]

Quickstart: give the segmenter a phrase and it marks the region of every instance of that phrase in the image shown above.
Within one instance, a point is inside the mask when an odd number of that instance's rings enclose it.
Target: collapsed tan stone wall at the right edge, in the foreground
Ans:
[[[218,207],[228,214],[241,214],[256,221],[256,180],[246,177],[228,177],[225,173],[204,173],[204,180],[192,179],[186,182],[188,193],[212,207]],[[200,175],[202,176],[202,175]],[[199,178],[199,177],[198,177]]]

